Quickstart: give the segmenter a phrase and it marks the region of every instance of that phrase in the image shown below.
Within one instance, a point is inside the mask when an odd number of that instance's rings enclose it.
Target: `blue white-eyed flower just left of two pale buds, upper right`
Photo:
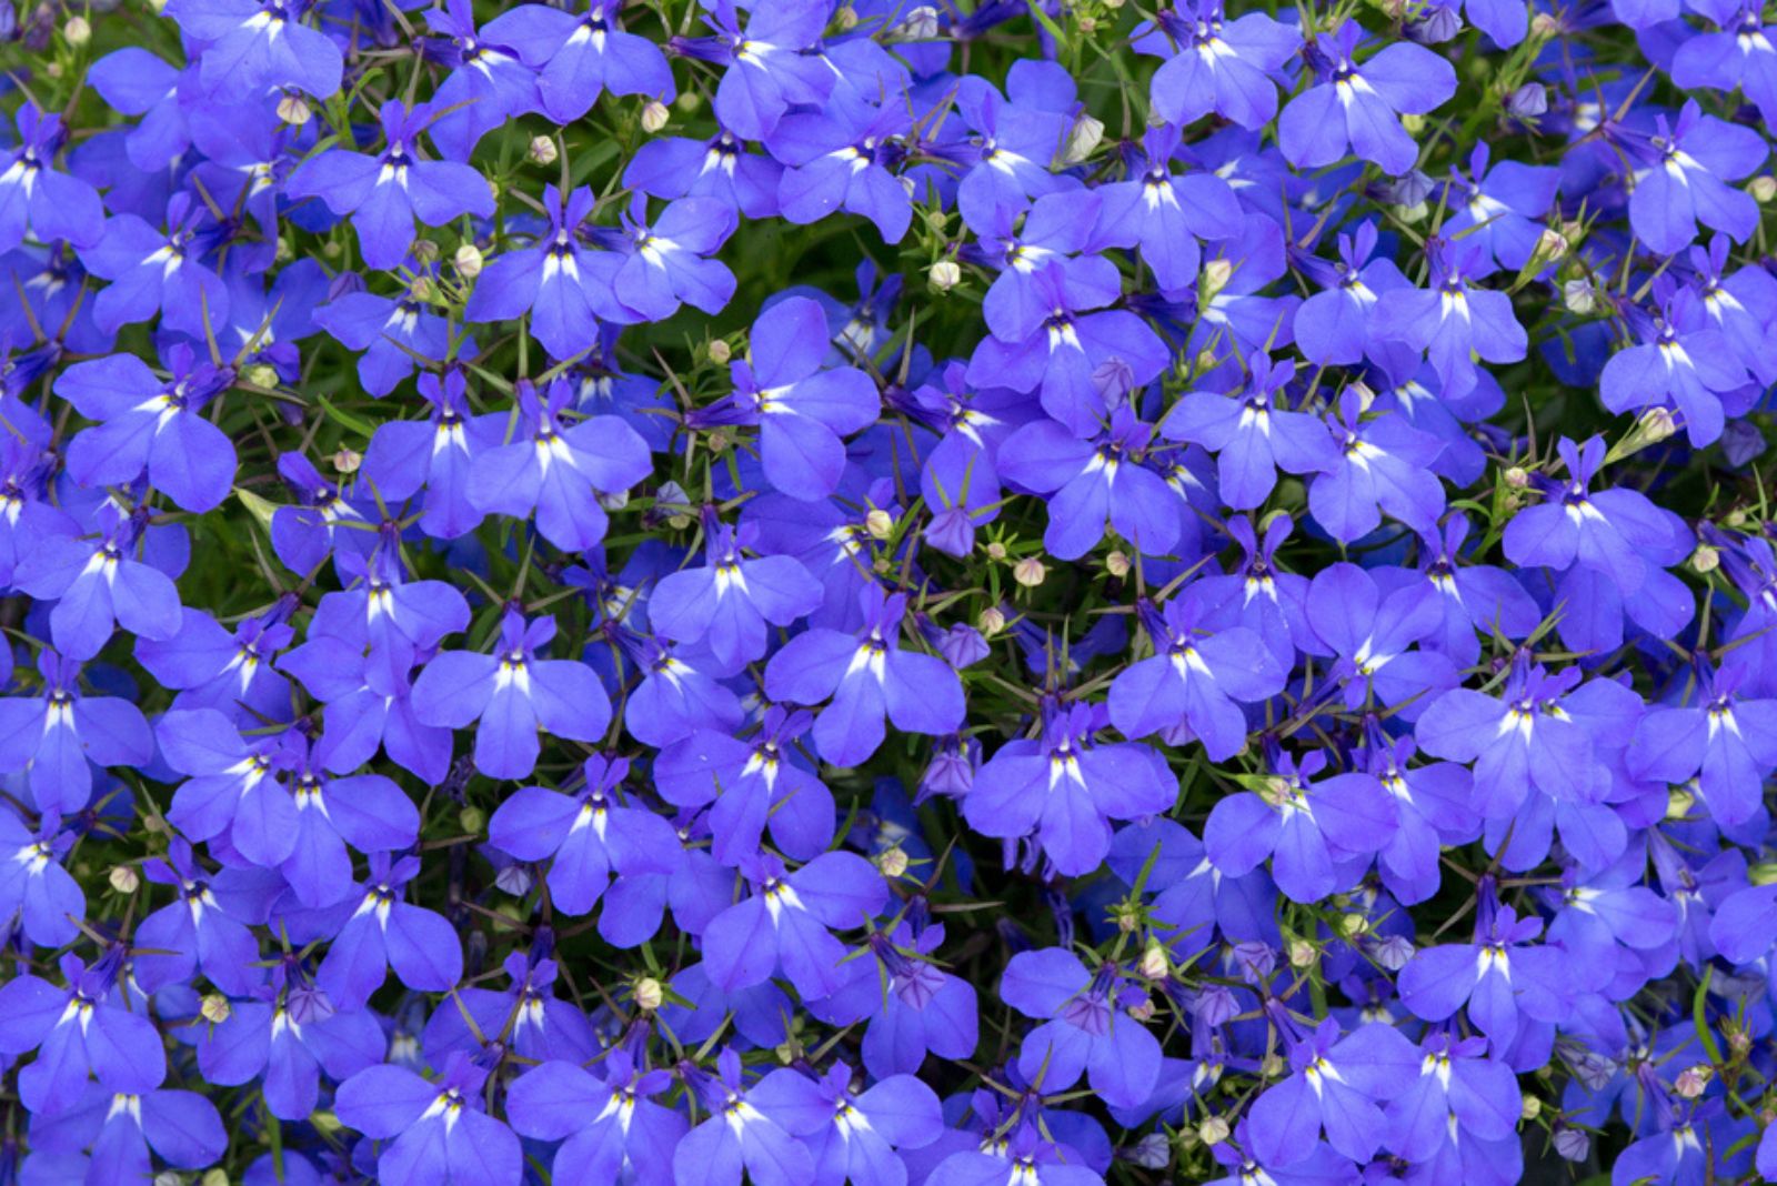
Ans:
[[[1518,362],[1530,339],[1507,293],[1471,284],[1491,270],[1480,243],[1464,238],[1439,245],[1430,261],[1430,288],[1383,295],[1370,332],[1427,353],[1443,385],[1439,394],[1459,399],[1480,382],[1477,359]]]

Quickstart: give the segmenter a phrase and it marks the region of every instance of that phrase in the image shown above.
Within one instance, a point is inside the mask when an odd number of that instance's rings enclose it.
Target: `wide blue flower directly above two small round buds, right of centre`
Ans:
[[[1120,405],[1111,424],[1089,437],[1050,419],[1025,424],[999,447],[1009,485],[1048,497],[1043,547],[1057,559],[1086,556],[1105,524],[1143,556],[1166,556],[1178,543],[1180,502],[1150,469],[1153,428]]]

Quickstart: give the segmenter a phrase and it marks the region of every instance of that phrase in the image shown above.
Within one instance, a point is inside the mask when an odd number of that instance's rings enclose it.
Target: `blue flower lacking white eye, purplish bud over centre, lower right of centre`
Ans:
[[[1134,1108],[1160,1076],[1160,1042],[1128,1008],[1146,991],[1116,964],[1088,969],[1064,948],[1020,952],[1006,964],[1000,998],[1040,1021],[1018,1053],[1020,1072],[1045,1094],[1084,1074],[1105,1103]]]

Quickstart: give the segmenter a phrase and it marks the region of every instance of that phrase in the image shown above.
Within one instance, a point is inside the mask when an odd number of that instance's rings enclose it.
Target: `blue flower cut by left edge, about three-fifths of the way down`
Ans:
[[[121,696],[80,691],[80,664],[37,652],[37,696],[0,700],[0,772],[27,772],[44,815],[75,815],[92,797],[92,765],[144,765],[155,739],[142,710]]]

